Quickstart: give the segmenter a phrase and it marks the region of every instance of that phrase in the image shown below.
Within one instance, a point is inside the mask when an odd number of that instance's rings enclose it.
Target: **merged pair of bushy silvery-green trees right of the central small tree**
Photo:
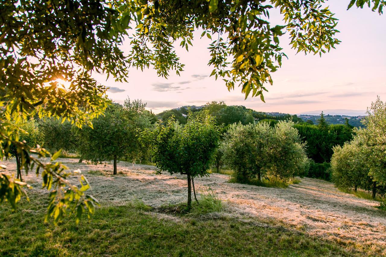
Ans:
[[[225,134],[223,160],[234,170],[232,181],[261,182],[266,179],[288,181],[303,176],[308,169],[304,145],[293,122],[280,121],[274,128],[268,123],[230,125]]]

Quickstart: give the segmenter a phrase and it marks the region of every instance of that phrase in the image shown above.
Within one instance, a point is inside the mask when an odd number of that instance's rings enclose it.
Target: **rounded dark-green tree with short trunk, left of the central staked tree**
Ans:
[[[113,103],[105,114],[93,120],[93,129],[78,130],[81,156],[95,164],[113,160],[113,174],[117,174],[117,160],[140,151],[136,137],[138,129],[150,127],[140,100],[126,100],[124,106]]]

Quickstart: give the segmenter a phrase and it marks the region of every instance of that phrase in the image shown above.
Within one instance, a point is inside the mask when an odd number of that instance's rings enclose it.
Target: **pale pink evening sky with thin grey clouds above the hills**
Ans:
[[[347,9],[348,0],[328,1],[330,10],[339,19],[337,38],[342,41],[336,49],[322,57],[296,54],[289,47],[288,34],[280,38],[281,47],[288,59],[282,67],[271,73],[273,85],[267,85],[266,103],[259,97],[248,97],[235,87],[228,91],[222,79],[209,77],[213,67],[207,65],[207,49],[211,40],[200,39],[195,33],[189,51],[176,44],[176,53],[185,64],[178,76],[170,72],[168,79],[157,76],[154,69],[130,69],[128,83],[106,80],[105,74],[94,74],[101,84],[109,87],[108,97],[123,103],[142,99],[154,113],[183,105],[204,105],[208,101],[225,101],[227,105],[244,105],[262,112],[306,113],[315,110],[366,110],[377,95],[386,101],[386,14],[371,9]],[[283,25],[278,11],[271,11],[272,24]],[[125,41],[122,50],[129,49]]]

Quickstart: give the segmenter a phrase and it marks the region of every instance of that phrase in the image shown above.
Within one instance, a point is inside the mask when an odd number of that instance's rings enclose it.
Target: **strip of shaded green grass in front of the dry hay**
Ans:
[[[228,216],[160,218],[140,201],[98,208],[76,225],[44,223],[46,195],[31,194],[17,212],[0,207],[0,254],[7,256],[216,256],[216,255],[350,255],[344,245],[321,240],[280,223],[240,221]],[[211,200],[210,200],[211,201]],[[151,211],[151,212],[148,212]]]

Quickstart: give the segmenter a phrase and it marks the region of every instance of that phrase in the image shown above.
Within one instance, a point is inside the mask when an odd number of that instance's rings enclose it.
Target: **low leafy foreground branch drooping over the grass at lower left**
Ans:
[[[8,124],[10,125],[10,124]],[[14,127],[17,130],[17,127]],[[21,164],[24,166],[25,171],[34,169],[36,167],[36,174],[41,174],[42,188],[48,191],[52,190],[49,194],[49,204],[47,207],[46,218],[52,216],[54,223],[58,223],[63,218],[64,214],[76,214],[76,223],[79,222],[83,213],[88,215],[93,214],[95,205],[99,205],[98,201],[93,196],[86,194],[86,191],[90,188],[85,176],[81,175],[80,171],[65,172],[68,167],[64,166],[60,162],[53,163],[61,154],[61,150],[51,155],[46,149],[40,145],[36,147],[30,147],[25,145],[24,142],[12,140],[10,137],[0,134],[0,139],[7,140],[5,152],[7,152],[7,146],[14,144],[17,147],[17,151],[21,156]],[[3,148],[1,146],[1,148]],[[1,156],[3,155],[3,149],[1,149]],[[37,157],[31,154],[36,154]],[[42,162],[42,158],[51,157],[49,162]],[[0,165],[0,169],[6,170],[5,165]],[[80,188],[71,184],[68,181],[69,176],[80,174]],[[26,188],[32,188],[29,184],[15,179],[14,176],[10,176],[5,172],[0,172],[0,202],[8,201],[12,206],[12,209],[16,209],[16,203],[25,196],[28,200]]]

